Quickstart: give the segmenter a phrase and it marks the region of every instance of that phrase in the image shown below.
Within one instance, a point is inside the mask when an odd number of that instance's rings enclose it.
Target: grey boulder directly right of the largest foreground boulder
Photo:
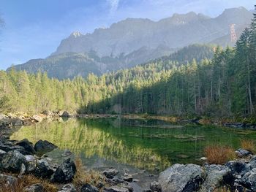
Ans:
[[[224,183],[224,178],[231,174],[230,168],[222,165],[206,165],[206,180],[200,191],[214,191]]]

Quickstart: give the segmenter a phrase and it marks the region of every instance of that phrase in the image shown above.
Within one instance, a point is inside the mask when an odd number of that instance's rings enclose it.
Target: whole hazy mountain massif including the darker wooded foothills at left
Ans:
[[[74,32],[50,57],[28,61],[15,69],[31,73],[40,70],[59,79],[86,77],[90,72],[103,74],[170,55],[195,43],[233,45],[230,24],[236,24],[240,36],[251,19],[252,12],[244,7],[225,9],[217,18],[195,12],[174,14],[157,22],[127,18],[110,28],[97,28],[92,34]]]

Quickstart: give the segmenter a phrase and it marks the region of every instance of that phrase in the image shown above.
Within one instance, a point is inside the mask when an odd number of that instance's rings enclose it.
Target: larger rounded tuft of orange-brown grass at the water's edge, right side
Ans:
[[[208,164],[225,164],[227,161],[236,158],[236,153],[227,146],[208,146],[205,148],[205,155]]]

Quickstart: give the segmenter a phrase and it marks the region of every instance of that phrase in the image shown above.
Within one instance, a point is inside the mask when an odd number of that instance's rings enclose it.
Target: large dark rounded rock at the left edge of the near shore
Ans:
[[[16,150],[12,150],[1,156],[0,169],[4,172],[19,173],[22,164],[27,164],[25,156]]]

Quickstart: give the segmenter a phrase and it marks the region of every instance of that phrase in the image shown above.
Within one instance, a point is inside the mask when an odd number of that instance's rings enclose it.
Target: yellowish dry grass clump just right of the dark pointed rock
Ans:
[[[91,185],[96,186],[99,182],[105,183],[104,178],[96,171],[86,172],[82,160],[80,158],[75,158],[75,166],[77,168],[77,172],[75,173],[75,177],[73,180],[73,184],[80,188],[84,183],[89,183]]]

